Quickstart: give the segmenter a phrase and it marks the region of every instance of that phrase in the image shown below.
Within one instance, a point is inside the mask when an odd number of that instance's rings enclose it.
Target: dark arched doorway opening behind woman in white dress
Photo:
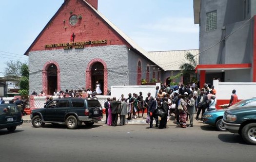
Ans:
[[[100,62],[96,62],[92,65],[92,70],[91,70],[91,88],[92,91],[96,89],[96,81],[100,84],[100,89],[103,93],[103,87],[104,87],[104,66]]]

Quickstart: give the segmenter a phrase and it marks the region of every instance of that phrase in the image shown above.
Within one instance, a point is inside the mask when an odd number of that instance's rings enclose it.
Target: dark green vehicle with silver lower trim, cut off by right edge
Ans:
[[[256,145],[256,102],[226,110],[222,122],[226,130],[238,133],[245,142]]]

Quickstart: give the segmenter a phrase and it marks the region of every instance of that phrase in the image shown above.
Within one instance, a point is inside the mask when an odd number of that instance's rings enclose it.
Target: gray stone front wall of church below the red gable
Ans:
[[[29,93],[34,90],[39,93],[42,90],[42,68],[48,61],[59,64],[61,90],[85,87],[87,65],[95,58],[104,60],[107,65],[108,88],[129,82],[126,46],[32,51],[29,53]]]

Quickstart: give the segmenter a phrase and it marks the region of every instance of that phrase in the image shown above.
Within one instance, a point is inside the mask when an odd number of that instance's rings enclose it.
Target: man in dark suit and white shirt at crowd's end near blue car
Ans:
[[[198,120],[201,110],[202,110],[201,120],[203,120],[203,114],[205,113],[205,109],[208,107],[207,100],[208,100],[208,97],[207,95],[205,95],[204,90],[202,90],[200,92],[200,95],[197,97],[198,111],[197,111],[196,120]]]

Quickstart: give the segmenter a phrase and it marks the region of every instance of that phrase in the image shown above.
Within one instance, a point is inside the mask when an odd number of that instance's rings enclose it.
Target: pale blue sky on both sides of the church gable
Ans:
[[[6,62],[28,63],[25,51],[63,2],[1,1],[0,77]],[[198,49],[193,0],[98,0],[98,11],[146,51]]]

